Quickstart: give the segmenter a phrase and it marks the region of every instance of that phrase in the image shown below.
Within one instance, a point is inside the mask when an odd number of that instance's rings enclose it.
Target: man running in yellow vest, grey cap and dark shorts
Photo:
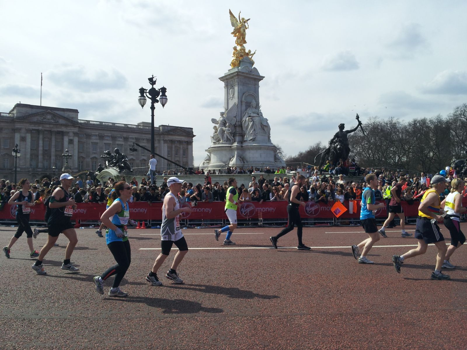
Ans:
[[[451,278],[449,275],[445,275],[441,272],[447,248],[444,243],[444,237],[441,231],[439,231],[439,226],[437,224],[437,221],[443,219],[441,215],[443,215],[444,210],[440,209],[441,201],[439,200],[439,194],[444,192],[446,182],[449,182],[449,180],[446,180],[444,176],[433,176],[431,182],[432,188],[425,192],[418,206],[417,227],[415,229],[415,238],[418,240],[417,248],[401,256],[392,256],[392,263],[397,273],[401,273],[401,265],[405,259],[425,254],[428,245],[433,243],[438,248],[438,255],[436,256],[435,271],[430,278],[432,280],[449,280]]]

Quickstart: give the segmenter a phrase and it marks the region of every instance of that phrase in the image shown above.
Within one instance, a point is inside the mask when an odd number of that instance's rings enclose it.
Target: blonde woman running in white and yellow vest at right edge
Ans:
[[[460,193],[463,189],[464,182],[461,179],[453,179],[451,182],[451,193],[448,194],[443,203],[441,203],[441,205],[445,205],[444,211],[446,212],[444,225],[451,235],[451,245],[447,248],[446,257],[441,267],[448,269],[456,267],[449,262],[449,258],[451,258],[453,252],[466,241],[466,237],[462,231],[460,231],[460,215],[467,211],[467,208],[462,207],[462,196]]]

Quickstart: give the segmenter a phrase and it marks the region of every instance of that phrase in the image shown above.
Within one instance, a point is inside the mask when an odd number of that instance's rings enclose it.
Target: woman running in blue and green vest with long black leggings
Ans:
[[[130,218],[128,200],[131,197],[131,186],[125,181],[120,181],[115,184],[114,189],[115,191],[110,194],[114,199],[113,203],[102,214],[100,220],[107,227],[107,247],[112,252],[117,264],[109,267],[102,275],[94,277],[94,284],[97,292],[104,294],[104,281],[115,275],[108,294],[109,296],[123,297],[128,294],[120,290],[119,286],[131,262],[131,249],[127,233],[127,224]]]

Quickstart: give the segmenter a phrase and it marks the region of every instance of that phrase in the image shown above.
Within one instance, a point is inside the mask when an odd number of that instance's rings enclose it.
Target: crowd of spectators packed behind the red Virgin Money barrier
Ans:
[[[334,171],[325,173],[321,169],[314,168],[291,168],[282,167],[276,171],[279,173],[260,173],[256,171],[265,170],[261,168],[250,167],[247,169],[248,173],[252,175],[251,181],[248,183],[240,183],[238,188],[240,199],[243,201],[251,202],[267,202],[267,201],[282,201],[287,199],[287,191],[290,186],[295,182],[295,175],[302,174],[308,175],[304,185],[300,189],[301,200],[315,201],[315,202],[335,202],[344,200],[359,200],[361,199],[362,190],[367,186],[364,178],[368,173],[374,173],[378,178],[378,188],[375,190],[376,199],[382,200],[390,197],[390,187],[396,184],[400,176],[407,179],[407,183],[403,187],[402,197],[403,200],[413,203],[414,200],[419,200],[421,194],[427,189],[427,179],[430,179],[432,174],[421,173],[409,175],[406,172],[389,170],[385,168],[358,168],[356,176],[353,177],[354,181],[346,179],[347,175],[343,172]],[[345,167],[344,167],[345,168]],[[184,182],[180,196],[183,202],[191,202],[195,206],[198,202],[223,202],[226,200],[226,190],[228,188],[227,180],[229,177],[234,177],[234,174],[240,174],[244,169],[231,169],[236,173],[227,175],[225,181],[212,183],[211,175],[216,175],[215,171],[206,171],[203,181],[199,183]],[[329,169],[328,169],[329,170]],[[333,170],[333,169],[331,169]],[[198,169],[200,174],[204,173],[203,169]],[[283,172],[282,172],[283,171]],[[293,172],[293,173],[290,173]],[[337,172],[337,174],[336,174]],[[132,186],[132,197],[130,202],[162,202],[164,196],[169,192],[167,187],[167,180],[173,174],[167,174],[163,177],[161,185],[151,184],[146,177],[140,178],[138,182],[136,177],[133,177],[129,183]],[[448,175],[448,174],[446,174]],[[448,177],[451,177],[452,172]],[[356,179],[356,180],[355,180]],[[104,203],[107,201],[113,184],[124,180],[127,181],[125,176],[120,179],[108,178],[105,183],[95,183],[91,177],[86,179],[76,178],[73,182],[70,192],[76,203]],[[467,178],[465,179],[467,183]],[[128,182],[128,181],[127,181]],[[47,189],[54,189],[60,185],[58,178],[44,178],[42,181],[36,179],[31,186],[35,202],[44,202],[47,194],[50,191]],[[9,198],[18,190],[14,183],[2,179],[0,181],[0,202],[7,203]],[[449,184],[446,189],[446,195],[449,193]]]

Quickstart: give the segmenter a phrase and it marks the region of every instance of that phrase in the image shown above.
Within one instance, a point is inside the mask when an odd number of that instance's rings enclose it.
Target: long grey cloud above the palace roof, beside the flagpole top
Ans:
[[[127,85],[127,78],[118,70],[90,72],[82,66],[53,70],[44,74],[44,81],[45,79],[50,79],[56,85],[85,92],[121,89]]]

